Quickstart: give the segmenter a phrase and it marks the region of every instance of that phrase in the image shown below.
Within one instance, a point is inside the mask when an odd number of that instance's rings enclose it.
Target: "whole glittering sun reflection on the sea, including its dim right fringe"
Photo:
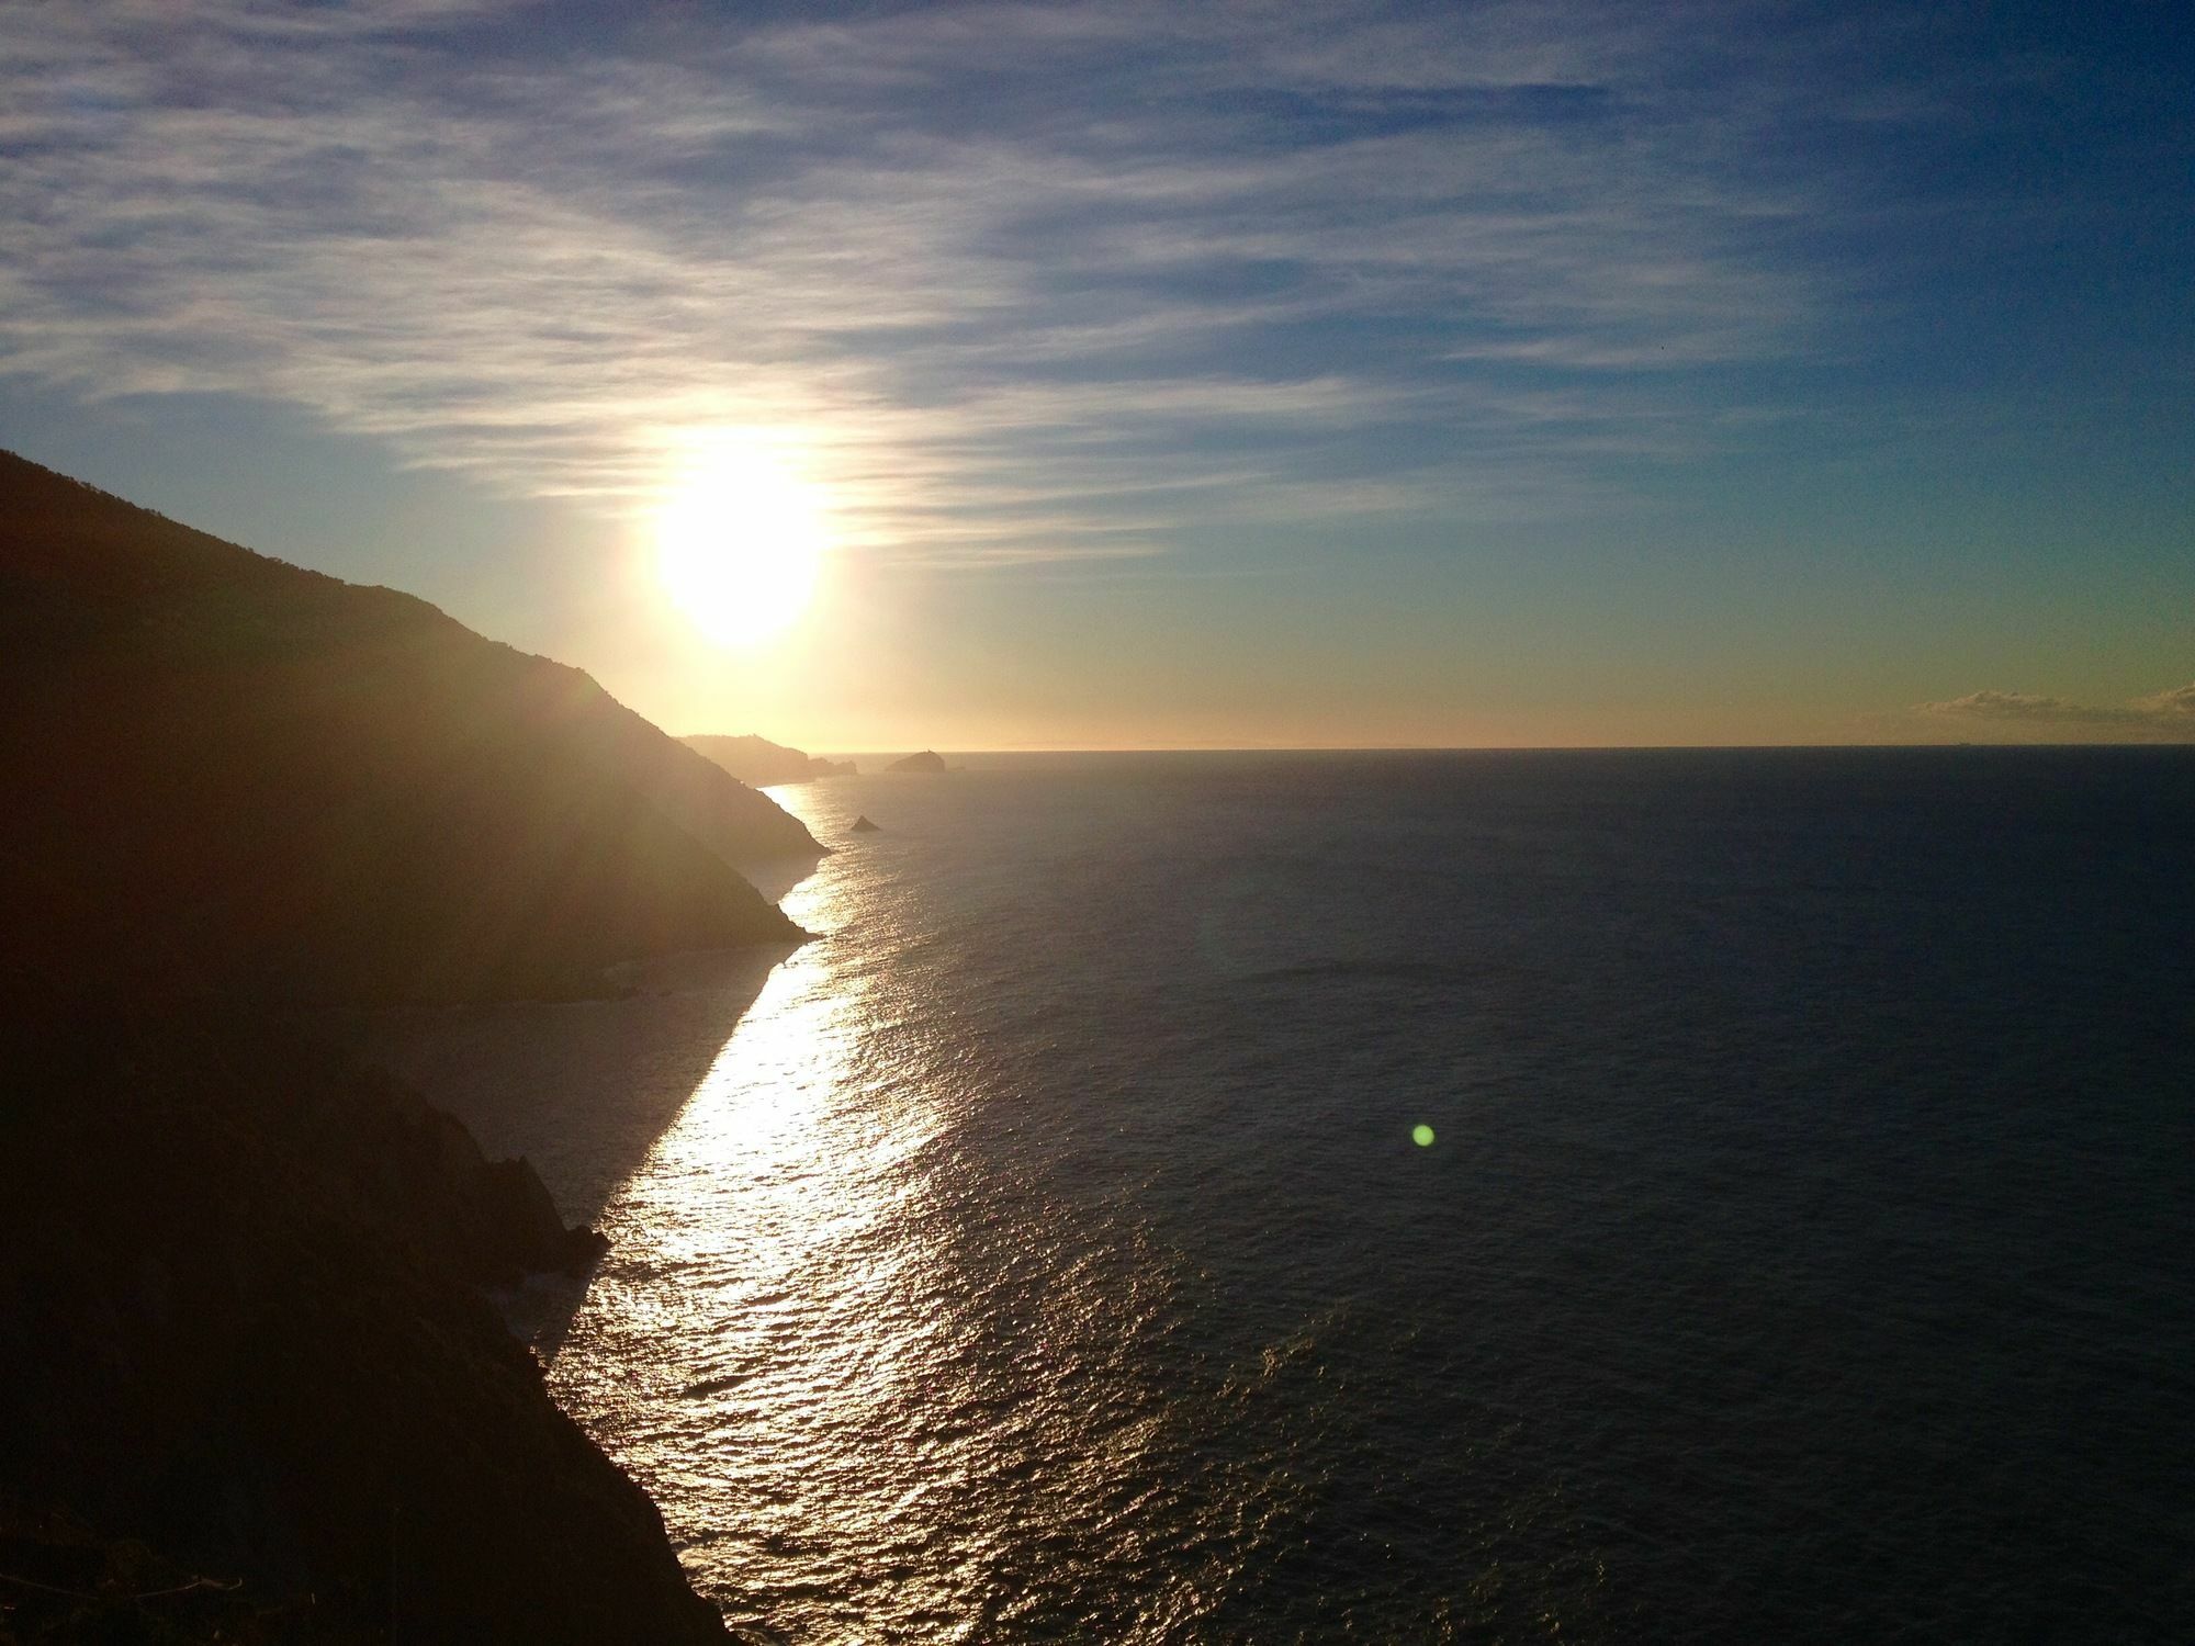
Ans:
[[[1040,952],[1043,915],[997,902],[979,841],[924,834],[922,794],[784,895],[821,937],[610,1196],[551,1387],[735,1626],[1192,1639],[1304,1484],[1185,1413],[1225,1427],[1271,1374],[1187,1345],[1203,1282],[1133,1181],[1060,1170],[1104,1075],[999,1031],[1071,1010],[975,939],[1018,920]],[[819,838],[878,803],[779,801]]]

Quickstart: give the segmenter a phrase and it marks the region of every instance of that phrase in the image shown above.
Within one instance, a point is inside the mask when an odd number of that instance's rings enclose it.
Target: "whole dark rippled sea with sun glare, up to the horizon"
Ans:
[[[775,792],[817,942],[391,1049],[751,1637],[2195,1637],[2195,751]]]

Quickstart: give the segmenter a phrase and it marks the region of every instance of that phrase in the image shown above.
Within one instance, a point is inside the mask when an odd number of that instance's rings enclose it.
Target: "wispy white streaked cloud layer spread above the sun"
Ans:
[[[1785,415],[1725,369],[1837,296],[1800,228],[1846,180],[1780,145],[1890,116],[1745,13],[678,7],[558,44],[487,2],[11,7],[0,371],[604,507],[696,430],[781,430],[852,542],[955,566],[1275,498],[1589,505]]]

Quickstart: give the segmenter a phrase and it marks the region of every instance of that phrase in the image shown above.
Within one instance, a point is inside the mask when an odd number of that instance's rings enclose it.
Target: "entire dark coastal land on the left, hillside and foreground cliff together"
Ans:
[[[0,454],[0,1646],[702,1642],[481,1288],[525,1161],[301,1005],[579,994],[814,854],[593,680]]]

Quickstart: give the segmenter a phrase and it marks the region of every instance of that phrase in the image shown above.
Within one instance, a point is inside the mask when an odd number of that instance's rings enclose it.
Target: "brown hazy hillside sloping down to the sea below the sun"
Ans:
[[[586,674],[0,454],[0,981],[571,992],[819,847]]]

